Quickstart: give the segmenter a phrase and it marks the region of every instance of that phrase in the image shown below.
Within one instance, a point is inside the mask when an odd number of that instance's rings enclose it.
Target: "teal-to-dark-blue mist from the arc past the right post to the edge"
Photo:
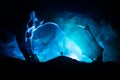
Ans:
[[[119,63],[119,35],[113,30],[108,21],[94,21],[94,18],[74,12],[58,13],[53,20],[64,31],[67,37],[81,49],[82,54],[92,60],[96,60],[103,54],[103,62],[113,61]],[[91,34],[85,30],[88,25],[96,42]],[[104,51],[101,50],[101,47]],[[82,60],[81,60],[82,61]]]

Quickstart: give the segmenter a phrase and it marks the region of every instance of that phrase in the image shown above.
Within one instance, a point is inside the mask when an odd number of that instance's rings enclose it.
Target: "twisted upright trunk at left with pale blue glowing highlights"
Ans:
[[[30,62],[39,62],[39,59],[37,58],[36,54],[34,54],[33,52],[33,48],[32,48],[32,37],[33,37],[33,32],[34,29],[36,28],[36,17],[35,17],[35,12],[32,11],[30,13],[30,20],[28,21],[27,24],[27,31],[26,31],[26,35],[25,35],[25,43],[26,43],[26,47],[27,47],[27,51],[28,51],[28,55],[25,58],[26,59],[30,59]],[[31,23],[31,24],[30,24]]]

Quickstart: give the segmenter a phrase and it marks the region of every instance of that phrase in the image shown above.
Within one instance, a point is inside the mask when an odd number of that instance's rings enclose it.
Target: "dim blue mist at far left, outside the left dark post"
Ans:
[[[3,40],[5,38],[7,39],[6,41],[0,41],[0,56],[25,60],[22,52],[18,48],[18,44],[14,34],[5,31],[2,31],[0,33],[4,35],[4,37],[2,37]]]

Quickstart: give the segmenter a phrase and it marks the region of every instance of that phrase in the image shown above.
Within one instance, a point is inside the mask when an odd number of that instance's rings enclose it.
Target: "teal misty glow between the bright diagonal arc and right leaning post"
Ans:
[[[67,37],[77,44],[82,55],[96,60],[102,54],[102,48],[96,39],[97,32],[95,31],[97,31],[96,27],[99,27],[96,22],[73,13],[59,14],[54,21],[60,25]],[[92,33],[87,30],[87,25]]]

